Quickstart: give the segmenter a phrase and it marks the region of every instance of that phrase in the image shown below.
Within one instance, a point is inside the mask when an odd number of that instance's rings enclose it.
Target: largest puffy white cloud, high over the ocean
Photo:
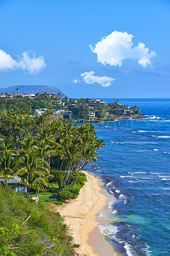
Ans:
[[[91,48],[92,52],[97,53],[98,62],[111,66],[122,65],[125,59],[135,59],[144,68],[151,65],[151,58],[156,55],[154,51],[146,48],[143,43],[134,46],[132,43],[133,35],[127,32],[114,31],[110,35],[98,42]]]

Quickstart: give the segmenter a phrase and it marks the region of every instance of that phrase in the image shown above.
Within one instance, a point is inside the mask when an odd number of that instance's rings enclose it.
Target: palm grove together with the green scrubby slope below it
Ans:
[[[73,255],[63,219],[40,201],[44,194],[56,204],[77,198],[86,182],[82,171],[97,161],[104,141],[91,124],[50,120],[23,108],[1,111],[0,136],[0,254]],[[21,182],[9,188],[11,176]]]

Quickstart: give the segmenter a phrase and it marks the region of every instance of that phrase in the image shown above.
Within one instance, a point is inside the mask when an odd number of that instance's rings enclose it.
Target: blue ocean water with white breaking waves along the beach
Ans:
[[[93,124],[106,143],[93,172],[116,197],[100,212],[99,227],[123,255],[169,256],[170,99],[119,101],[150,118]]]

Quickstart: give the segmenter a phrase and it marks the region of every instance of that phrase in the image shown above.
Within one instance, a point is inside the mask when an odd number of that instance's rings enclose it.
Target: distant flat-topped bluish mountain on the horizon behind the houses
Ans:
[[[16,89],[19,88],[19,92],[16,91]],[[61,97],[65,97],[66,95],[61,92],[58,88],[47,86],[47,85],[16,85],[16,86],[10,86],[7,88],[0,88],[0,93],[54,93],[58,95],[58,93],[61,93]]]

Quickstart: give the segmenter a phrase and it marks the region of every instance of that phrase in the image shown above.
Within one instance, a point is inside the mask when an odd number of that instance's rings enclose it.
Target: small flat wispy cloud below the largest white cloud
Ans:
[[[83,77],[83,81],[86,84],[94,84],[98,83],[101,84],[103,87],[108,87],[111,85],[111,82],[114,81],[115,78],[112,77],[107,77],[107,76],[94,76],[95,72],[90,71],[90,72],[84,72],[81,74]]]

